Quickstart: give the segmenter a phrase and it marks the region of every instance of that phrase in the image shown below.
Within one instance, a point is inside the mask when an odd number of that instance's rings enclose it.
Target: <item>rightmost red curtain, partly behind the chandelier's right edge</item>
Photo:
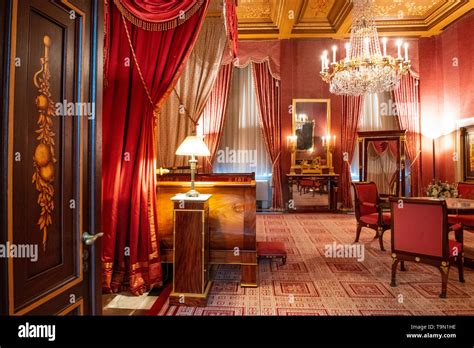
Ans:
[[[400,129],[407,130],[405,149],[410,161],[410,189],[412,196],[421,196],[420,170],[420,94],[419,80],[411,73],[402,76],[400,87],[393,92]]]

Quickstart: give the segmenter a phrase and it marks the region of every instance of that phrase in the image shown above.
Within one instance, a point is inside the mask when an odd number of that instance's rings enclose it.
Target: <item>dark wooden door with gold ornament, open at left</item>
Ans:
[[[6,7],[2,236],[16,255],[0,269],[7,284],[0,311],[100,314],[100,242],[85,245],[83,234],[100,232],[103,2]]]

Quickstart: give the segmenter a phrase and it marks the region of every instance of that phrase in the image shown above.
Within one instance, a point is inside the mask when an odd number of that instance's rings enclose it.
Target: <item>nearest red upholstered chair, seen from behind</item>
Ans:
[[[390,198],[392,213],[392,283],[397,286],[399,261],[422,262],[438,267],[441,272],[441,298],[446,297],[451,264],[458,265],[459,281],[464,282],[462,262],[462,225],[451,230],[458,241],[448,238],[448,216],[445,201]]]

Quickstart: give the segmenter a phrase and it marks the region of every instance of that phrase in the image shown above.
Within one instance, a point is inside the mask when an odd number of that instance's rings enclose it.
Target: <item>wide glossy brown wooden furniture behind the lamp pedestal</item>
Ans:
[[[176,181],[176,177],[183,181]],[[169,174],[158,179],[158,234],[163,262],[173,262],[173,204],[170,198],[189,190],[187,180],[189,175],[186,174]],[[196,190],[212,194],[209,202],[210,263],[247,266],[241,268],[242,286],[257,285],[255,187],[253,174],[197,175]]]

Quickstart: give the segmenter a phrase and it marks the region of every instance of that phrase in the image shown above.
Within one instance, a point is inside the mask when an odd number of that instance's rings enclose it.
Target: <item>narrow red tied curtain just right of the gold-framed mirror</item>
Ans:
[[[341,197],[344,208],[352,208],[351,195],[351,161],[354,155],[354,144],[357,138],[360,112],[362,110],[361,96],[342,97],[341,151],[344,162],[341,173]]]

